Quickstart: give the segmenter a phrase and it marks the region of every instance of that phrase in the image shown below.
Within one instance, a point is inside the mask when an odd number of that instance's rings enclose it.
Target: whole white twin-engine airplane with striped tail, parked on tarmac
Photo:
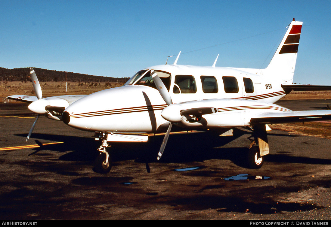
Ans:
[[[269,153],[266,124],[331,120],[330,110],[291,111],[273,104],[292,90],[329,90],[330,86],[293,85],[302,22],[288,26],[276,53],[265,69],[213,66],[157,65],[137,72],[122,87],[91,95],[42,97],[31,68],[37,97],[13,95],[30,102],[28,108],[48,118],[85,131],[102,141],[95,169],[111,169],[109,142],[147,141],[148,134],[166,132],[161,158],[172,125],[185,130],[223,130],[235,127],[253,131],[247,154],[248,166],[260,168]],[[217,56],[218,57],[218,56]],[[37,121],[36,119],[36,121]],[[34,122],[27,138],[35,126]]]

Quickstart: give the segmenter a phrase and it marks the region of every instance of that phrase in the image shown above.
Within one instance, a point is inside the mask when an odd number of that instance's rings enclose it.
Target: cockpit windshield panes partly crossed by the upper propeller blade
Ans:
[[[162,82],[165,84],[167,90],[170,89],[171,75],[164,71],[155,70]],[[130,80],[124,85],[144,85],[156,89],[153,77],[151,76],[151,70],[141,70],[137,72]]]

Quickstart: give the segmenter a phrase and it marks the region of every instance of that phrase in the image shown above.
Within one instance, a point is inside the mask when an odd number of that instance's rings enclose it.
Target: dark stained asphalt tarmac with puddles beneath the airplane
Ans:
[[[281,101],[293,110],[331,100]],[[311,108],[312,107],[312,108]],[[245,166],[249,131],[170,135],[113,143],[108,174],[93,171],[93,133],[0,104],[0,220],[329,220],[331,140],[268,132],[261,169]],[[322,129],[321,129],[322,130]],[[12,148],[10,148],[12,147]]]

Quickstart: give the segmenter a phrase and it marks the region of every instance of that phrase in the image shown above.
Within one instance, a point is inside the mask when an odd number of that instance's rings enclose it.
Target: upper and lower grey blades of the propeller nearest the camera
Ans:
[[[153,81],[154,81],[154,83],[156,85],[156,88],[160,92],[160,95],[162,96],[163,100],[165,100],[165,102],[166,102],[166,104],[168,106],[170,104],[172,104],[171,96],[168,93],[168,90],[166,89],[166,86],[164,85],[164,83],[162,82],[162,80],[160,79],[160,77],[158,76],[158,74],[154,70],[151,70],[151,76],[152,76]],[[160,158],[161,158],[161,156],[162,156],[162,154],[163,154],[163,152],[164,152],[164,150],[166,148],[166,143],[167,143],[168,138],[169,138],[171,127],[172,127],[172,122],[170,122],[169,127],[168,127],[168,129],[166,131],[166,135],[163,138],[162,145],[160,147],[160,151],[159,151],[159,154],[158,154],[158,160],[160,160]]]

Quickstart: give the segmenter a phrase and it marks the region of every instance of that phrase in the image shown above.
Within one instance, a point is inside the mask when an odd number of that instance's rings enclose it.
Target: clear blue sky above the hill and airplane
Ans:
[[[264,68],[295,18],[304,26],[294,82],[331,85],[330,9],[331,1],[1,0],[0,67],[131,77],[181,51],[178,64],[212,65],[219,54],[216,66]]]

